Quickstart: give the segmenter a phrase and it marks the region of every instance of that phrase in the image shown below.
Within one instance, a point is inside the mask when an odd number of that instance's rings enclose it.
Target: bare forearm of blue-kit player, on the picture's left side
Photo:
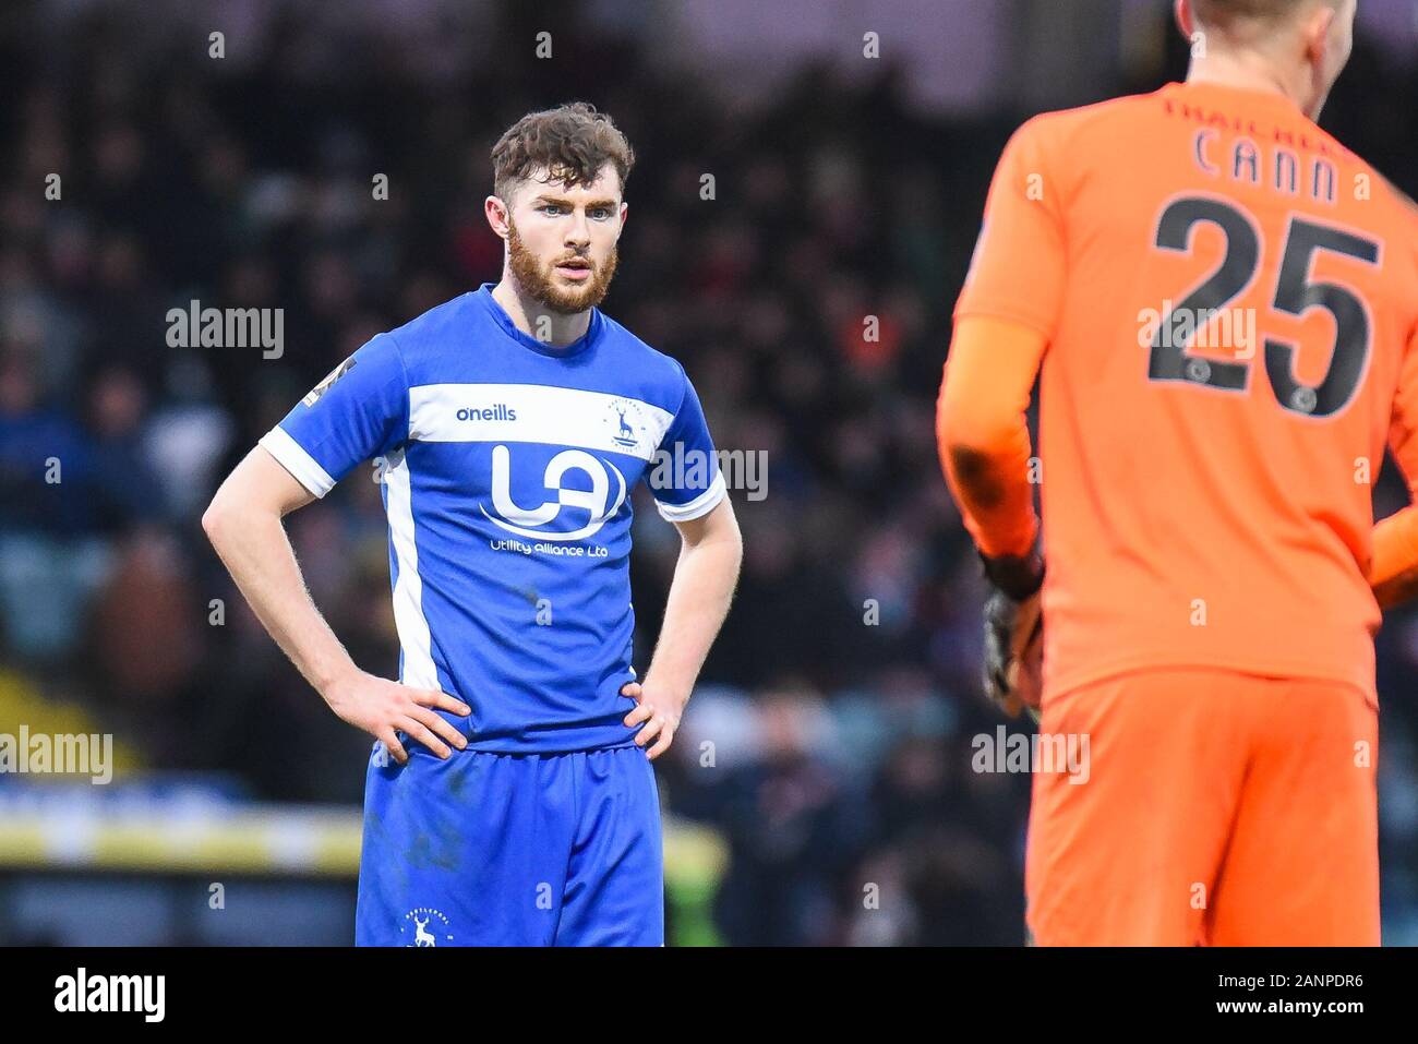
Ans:
[[[311,601],[277,512],[218,494],[201,523],[251,611],[316,692],[357,670]]]

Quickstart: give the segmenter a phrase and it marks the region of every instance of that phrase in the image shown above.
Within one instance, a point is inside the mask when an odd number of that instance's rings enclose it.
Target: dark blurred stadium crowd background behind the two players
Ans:
[[[761,501],[735,494],[743,582],[659,762],[671,942],[1018,943],[1028,777],[970,769],[1003,719],[934,396],[1005,138],[1181,78],[1168,7],[7,3],[0,732],[111,732],[121,767],[106,787],[0,776],[0,943],[352,939],[370,740],[288,665],[197,519],[372,333],[498,279],[488,150],[570,99],[640,157],[605,311],[685,363],[720,448],[769,462]],[[1412,4],[1363,0],[1323,119],[1409,193],[1415,57]],[[284,309],[282,357],[169,348],[167,309],[194,298]],[[1377,512],[1402,502],[1388,468]],[[678,542],[638,506],[644,665]],[[289,531],[335,631],[391,675],[374,482]],[[1418,943],[1418,617],[1391,614],[1378,651],[1385,939]]]

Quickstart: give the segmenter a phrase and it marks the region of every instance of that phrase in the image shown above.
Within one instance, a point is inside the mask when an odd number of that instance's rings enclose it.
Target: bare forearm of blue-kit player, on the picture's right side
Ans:
[[[682,546],[669,584],[659,641],[645,672],[647,685],[666,687],[689,696],[729,614],[742,562],[743,542],[737,525]]]

